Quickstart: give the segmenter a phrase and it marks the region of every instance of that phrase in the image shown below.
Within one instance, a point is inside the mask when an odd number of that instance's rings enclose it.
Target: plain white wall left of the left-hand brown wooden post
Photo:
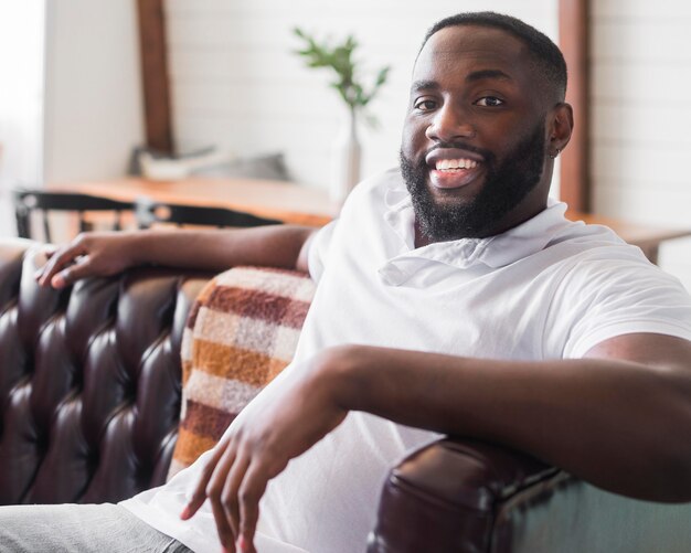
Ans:
[[[135,0],[49,0],[44,180],[121,177],[143,141]]]

